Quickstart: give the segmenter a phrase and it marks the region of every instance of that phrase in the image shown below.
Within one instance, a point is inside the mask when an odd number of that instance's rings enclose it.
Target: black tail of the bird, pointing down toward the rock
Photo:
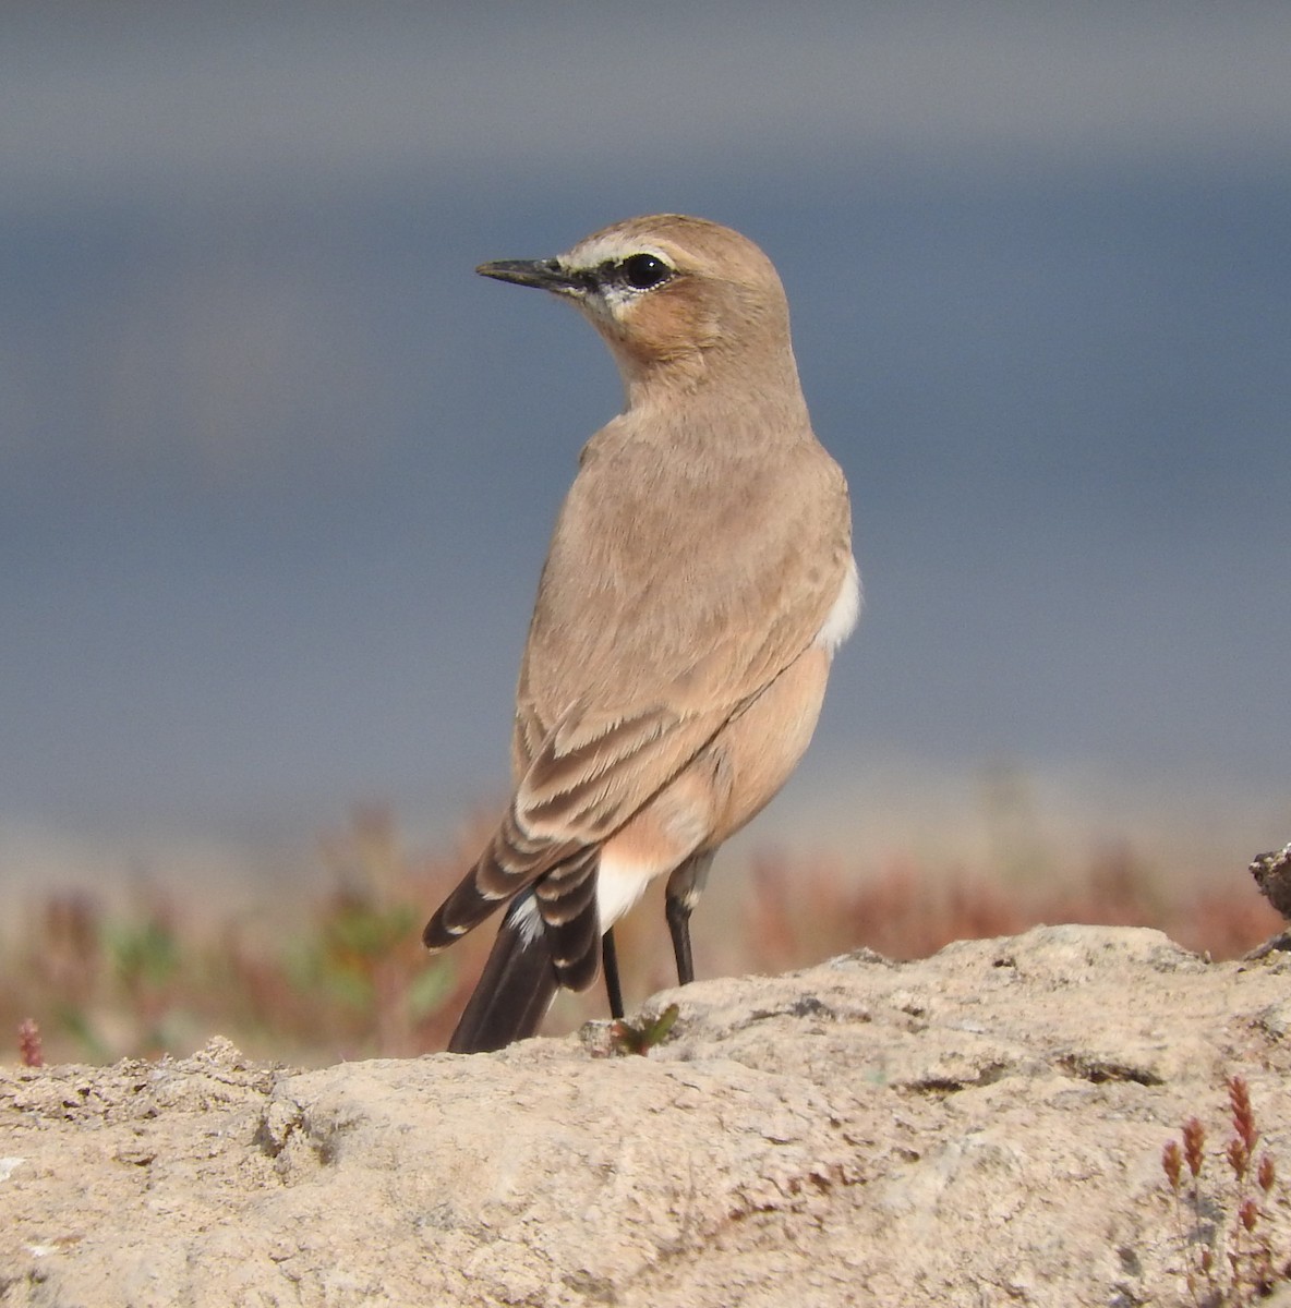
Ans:
[[[517,917],[513,906],[453,1032],[449,1053],[489,1053],[534,1035],[542,1025],[556,997],[556,969],[542,923],[527,923],[526,931],[517,925]],[[538,926],[536,933],[532,926]]]

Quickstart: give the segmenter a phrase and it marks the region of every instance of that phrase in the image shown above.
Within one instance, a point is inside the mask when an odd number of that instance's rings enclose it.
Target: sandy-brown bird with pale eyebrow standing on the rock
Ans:
[[[603,965],[655,878],[678,982],[719,845],[807,748],[861,610],[848,484],[812,432],[781,280],[731,228],[629,218],[485,277],[569,301],[610,348],[623,412],[583,446],[521,661],[514,787],[436,910],[438,951],[506,908],[449,1052],[536,1033]]]

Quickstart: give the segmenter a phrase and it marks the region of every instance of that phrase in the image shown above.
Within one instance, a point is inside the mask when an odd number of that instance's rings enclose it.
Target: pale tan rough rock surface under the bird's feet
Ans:
[[[1291,1175],[1286,955],[1039,927],[671,1002],[647,1057],[3,1071],[0,1304],[1181,1304],[1182,1120],[1216,1219],[1227,1075]]]

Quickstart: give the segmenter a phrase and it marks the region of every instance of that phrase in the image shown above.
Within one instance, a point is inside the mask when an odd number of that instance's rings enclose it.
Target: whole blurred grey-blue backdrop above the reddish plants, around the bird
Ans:
[[[119,895],[289,920],[370,882],[334,854],[373,829],[428,893],[464,866],[621,400],[577,314],[472,268],[655,211],[780,268],[866,583],[723,886],[773,852],[1253,897],[1291,836],[1286,5],[13,3],[0,35],[24,939]]]

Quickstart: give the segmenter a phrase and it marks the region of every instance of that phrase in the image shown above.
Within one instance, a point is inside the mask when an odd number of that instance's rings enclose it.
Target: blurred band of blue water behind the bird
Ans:
[[[494,794],[620,394],[577,315],[471,269],[651,208],[772,254],[853,488],[821,757],[1287,776],[1291,174],[632,165],[0,196],[0,816]]]

